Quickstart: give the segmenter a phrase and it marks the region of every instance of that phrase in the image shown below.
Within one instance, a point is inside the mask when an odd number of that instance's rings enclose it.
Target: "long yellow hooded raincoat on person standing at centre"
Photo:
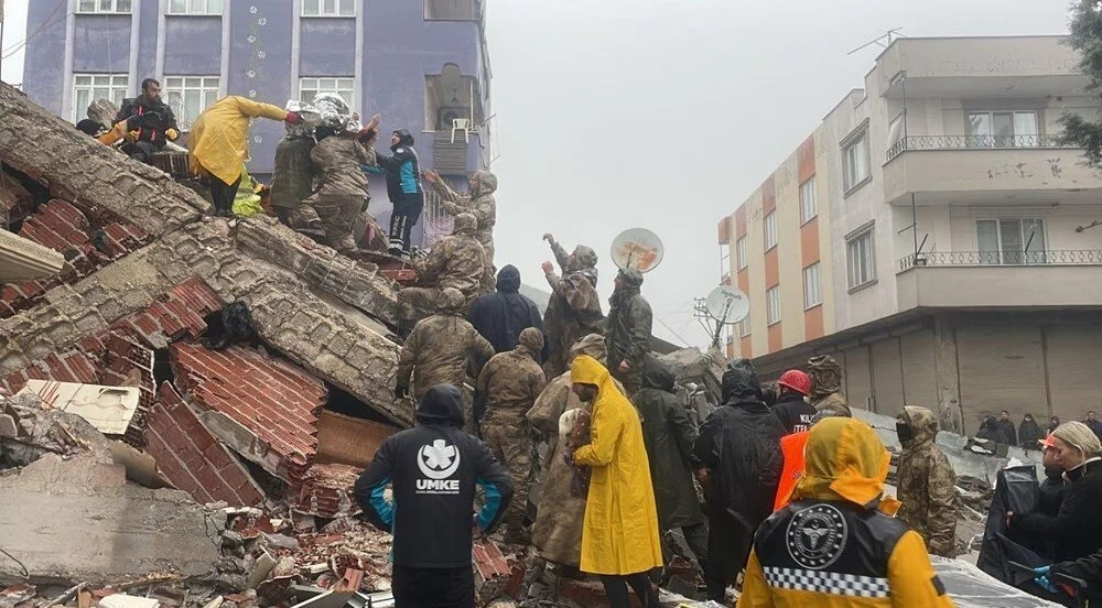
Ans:
[[[636,574],[660,567],[658,509],[639,414],[593,357],[576,357],[570,373],[571,382],[597,387],[590,444],[574,452],[574,463],[592,467],[581,569]]]

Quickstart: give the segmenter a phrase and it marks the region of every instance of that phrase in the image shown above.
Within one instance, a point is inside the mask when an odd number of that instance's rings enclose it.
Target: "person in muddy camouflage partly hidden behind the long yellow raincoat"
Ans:
[[[597,361],[605,360],[605,338],[590,334],[570,350],[570,359],[587,355]],[[570,490],[573,471],[563,457],[564,441],[559,436],[559,419],[588,404],[571,390],[570,372],[552,378],[540,393],[526,417],[548,442],[543,470],[540,473],[540,503],[532,524],[532,544],[540,556],[564,569],[576,571],[582,556],[582,522],[585,518],[585,496]]]

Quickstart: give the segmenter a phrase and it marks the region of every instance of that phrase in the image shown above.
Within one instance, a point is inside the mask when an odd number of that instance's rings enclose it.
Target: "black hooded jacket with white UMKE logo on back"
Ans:
[[[509,471],[462,427],[460,390],[433,387],[418,405],[417,426],[387,439],[356,481],[360,508],[395,536],[396,566],[469,566],[475,486],[486,497],[475,517],[483,531],[497,526],[512,499]],[[392,500],[383,497],[388,486]]]

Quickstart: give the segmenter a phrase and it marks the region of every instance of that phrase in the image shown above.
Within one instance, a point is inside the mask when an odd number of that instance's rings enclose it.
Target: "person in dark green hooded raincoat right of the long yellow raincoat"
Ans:
[[[642,439],[655,485],[658,529],[680,528],[703,569],[707,564],[707,526],[692,482],[692,444],[696,428],[684,401],[677,394],[670,367],[649,358],[644,365],[642,388],[631,402],[642,417]]]

